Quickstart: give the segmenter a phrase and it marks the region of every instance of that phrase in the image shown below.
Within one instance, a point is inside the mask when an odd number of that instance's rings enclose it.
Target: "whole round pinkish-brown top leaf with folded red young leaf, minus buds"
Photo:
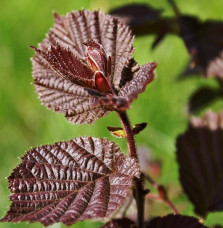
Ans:
[[[101,44],[106,57],[111,57],[111,73],[105,75],[113,91],[109,96],[94,85],[84,45],[89,40]],[[132,59],[133,40],[128,26],[99,11],[76,11],[64,17],[55,14],[55,25],[38,49],[34,48],[32,60],[34,84],[42,103],[64,113],[75,124],[92,124],[112,110],[128,109],[136,93],[141,93],[153,79],[155,68],[155,63],[148,63],[139,70]],[[132,84],[123,87],[126,82]]]

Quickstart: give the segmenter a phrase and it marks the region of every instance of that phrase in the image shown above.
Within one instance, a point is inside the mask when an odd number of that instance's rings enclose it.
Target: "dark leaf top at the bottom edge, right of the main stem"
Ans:
[[[208,228],[199,223],[196,218],[169,214],[165,217],[154,218],[147,228]]]

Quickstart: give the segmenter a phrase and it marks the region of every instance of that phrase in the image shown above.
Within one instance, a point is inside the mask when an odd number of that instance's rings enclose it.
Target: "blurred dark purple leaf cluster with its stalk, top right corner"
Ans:
[[[180,36],[191,55],[193,64],[198,66],[206,77],[223,77],[223,23],[180,14],[173,1],[176,17],[161,17],[160,10],[145,4],[129,4],[112,10],[136,35],[156,34],[152,48],[167,35]],[[134,12],[135,11],[135,12]]]

